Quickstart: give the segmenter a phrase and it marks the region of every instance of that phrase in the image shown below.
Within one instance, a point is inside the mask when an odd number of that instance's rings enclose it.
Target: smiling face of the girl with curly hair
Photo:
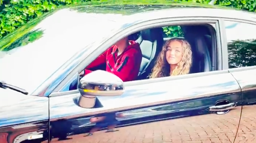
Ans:
[[[178,64],[182,60],[183,50],[181,42],[170,42],[166,51],[166,61],[169,64]]]

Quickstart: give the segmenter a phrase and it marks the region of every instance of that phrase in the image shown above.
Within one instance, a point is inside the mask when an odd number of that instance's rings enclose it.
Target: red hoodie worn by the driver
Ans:
[[[87,68],[93,68],[106,63],[106,71],[117,75],[122,81],[136,80],[141,65],[142,53],[137,42],[129,42],[130,45],[119,56],[117,56],[117,46],[111,46],[107,51],[89,64]],[[90,72],[92,71],[85,69],[85,74]]]

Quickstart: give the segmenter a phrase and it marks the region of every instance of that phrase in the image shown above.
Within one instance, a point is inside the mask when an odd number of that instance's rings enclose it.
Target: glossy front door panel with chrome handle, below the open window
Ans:
[[[98,97],[98,108],[77,106],[79,93],[50,97],[51,143],[233,143],[241,115],[237,81],[227,71],[194,75],[127,83],[121,96]],[[115,130],[106,132],[111,125]],[[87,136],[92,128],[99,130]]]

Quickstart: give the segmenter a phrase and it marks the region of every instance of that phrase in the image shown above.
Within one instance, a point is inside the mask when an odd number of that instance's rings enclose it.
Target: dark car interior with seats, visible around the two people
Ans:
[[[216,70],[216,40],[215,29],[209,24],[181,25],[184,37],[192,48],[192,67],[190,73],[209,72]],[[142,51],[142,61],[137,80],[147,79],[152,71],[162,46],[169,40],[164,38],[162,27],[146,29],[130,35],[129,40],[139,43]],[[105,64],[89,70],[105,70]]]

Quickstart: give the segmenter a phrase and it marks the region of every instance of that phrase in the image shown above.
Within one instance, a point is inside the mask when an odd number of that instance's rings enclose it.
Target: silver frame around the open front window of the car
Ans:
[[[133,26],[130,26],[119,33],[115,34],[113,37],[109,38],[106,42],[104,42],[101,46],[99,46],[95,51],[92,52],[92,54],[88,55],[83,61],[64,79],[61,81],[60,84],[53,90],[53,92],[49,95],[49,97],[56,96],[56,95],[67,95],[72,93],[77,93],[78,90],[72,90],[72,91],[64,91],[59,92],[70,79],[77,75],[77,73],[81,72],[88,64],[90,64],[92,61],[95,60],[95,57],[98,57],[101,53],[103,53],[107,48],[109,48],[111,45],[113,45],[115,42],[120,40],[123,37],[126,37],[134,32],[154,28],[154,27],[164,27],[164,26],[172,26],[172,25],[182,25],[182,24],[214,24],[216,25],[216,44],[220,43],[220,29],[219,29],[219,22],[220,18],[207,18],[207,17],[191,17],[191,18],[164,18],[164,19],[157,19],[157,20],[150,20],[146,22],[141,22],[139,24],[135,24]],[[218,44],[216,45],[217,48],[217,54],[218,57],[222,57],[222,45]],[[222,70],[222,59],[218,58],[218,70]],[[85,66],[83,66],[85,65]],[[156,79],[145,79],[145,80],[138,80],[138,81],[129,81],[125,82],[125,86],[129,85],[137,85],[137,84],[143,84],[143,83],[155,83],[155,82],[161,82],[161,81],[169,81],[169,80],[177,80],[181,78],[191,78],[195,76],[201,76],[201,75],[207,75],[207,74],[213,74],[211,72],[204,72],[204,73],[191,73],[188,75],[180,75],[178,77],[162,77],[162,78],[156,78]]]

